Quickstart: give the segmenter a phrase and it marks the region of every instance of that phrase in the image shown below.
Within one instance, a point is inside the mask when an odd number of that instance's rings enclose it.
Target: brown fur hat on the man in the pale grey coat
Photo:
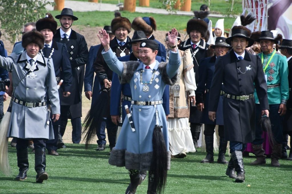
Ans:
[[[21,45],[23,48],[25,48],[30,43],[35,43],[39,45],[39,49],[43,49],[45,44],[45,37],[42,33],[36,30],[26,32],[22,35]]]

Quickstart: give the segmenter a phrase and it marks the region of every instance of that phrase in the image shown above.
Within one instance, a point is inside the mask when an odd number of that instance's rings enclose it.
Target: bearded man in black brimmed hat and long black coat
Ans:
[[[66,105],[61,107],[60,134],[62,136],[64,135],[70,116],[72,123],[72,142],[79,143],[81,141],[82,117],[81,92],[84,81],[84,65],[88,59],[88,48],[84,36],[71,29],[74,20],[78,20],[73,15],[72,9],[64,8],[61,14],[56,15],[55,18],[60,20],[61,28],[56,31],[53,40],[66,44],[72,68],[71,94],[66,100]],[[64,143],[60,138],[58,140],[58,147],[62,145]]]

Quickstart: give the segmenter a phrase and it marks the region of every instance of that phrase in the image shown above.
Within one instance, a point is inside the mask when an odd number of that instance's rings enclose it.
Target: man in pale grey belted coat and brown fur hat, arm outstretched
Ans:
[[[0,67],[12,73],[12,108],[8,127],[8,137],[17,137],[16,180],[25,180],[28,170],[27,145],[34,141],[36,182],[48,179],[46,168],[45,140],[54,138],[53,127],[47,123],[47,100],[50,99],[52,121],[60,116],[60,100],[52,59],[43,57],[39,50],[44,47],[44,36],[38,31],[30,31],[22,36],[22,46],[26,51],[9,57],[0,56]],[[7,114],[7,113],[6,113]]]

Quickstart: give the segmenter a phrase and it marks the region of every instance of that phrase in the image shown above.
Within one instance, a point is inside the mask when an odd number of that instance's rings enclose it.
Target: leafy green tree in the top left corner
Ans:
[[[54,5],[47,0],[0,0],[1,28],[5,30],[11,43],[14,43],[27,22],[36,22],[45,17],[46,5]]]

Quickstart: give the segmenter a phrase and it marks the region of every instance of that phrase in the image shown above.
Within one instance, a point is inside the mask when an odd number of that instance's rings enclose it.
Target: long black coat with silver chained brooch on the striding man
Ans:
[[[244,59],[238,60],[235,53],[218,57],[210,88],[209,109],[217,111],[221,84],[225,94],[242,96],[254,93],[254,85],[260,100],[261,110],[268,110],[267,83],[263,65],[258,55],[245,51]],[[255,99],[236,100],[224,98],[224,138],[242,143],[255,139]]]

